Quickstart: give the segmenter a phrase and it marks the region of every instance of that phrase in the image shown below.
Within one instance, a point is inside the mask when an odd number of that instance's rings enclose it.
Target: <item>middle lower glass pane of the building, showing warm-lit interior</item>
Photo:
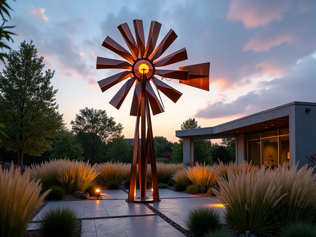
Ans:
[[[278,166],[278,138],[262,139],[262,164]]]

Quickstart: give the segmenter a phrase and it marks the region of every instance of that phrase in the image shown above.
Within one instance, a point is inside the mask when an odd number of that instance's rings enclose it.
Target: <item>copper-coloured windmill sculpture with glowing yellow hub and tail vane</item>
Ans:
[[[171,29],[163,38],[161,43],[155,48],[161,24],[157,21],[151,21],[147,43],[145,45],[144,29],[142,20],[134,20],[134,29],[136,42],[127,23],[119,25],[119,31],[122,34],[130,52],[112,40],[109,36],[103,41],[102,46],[118,54],[126,61],[97,57],[97,69],[126,69],[123,72],[98,81],[102,92],[111,88],[123,80],[128,79],[119,89],[118,93],[112,98],[110,104],[119,109],[131,90],[134,82],[134,89],[130,115],[137,116],[134,135],[133,159],[131,164],[131,183],[128,192],[128,202],[159,202],[157,169],[155,160],[153,132],[150,119],[149,106],[153,115],[164,112],[161,103],[156,96],[150,82],[152,82],[158,92],[158,89],[165,94],[174,103],[179,100],[181,92],[168,86],[155,75],[162,78],[172,78],[179,80],[179,83],[193,86],[196,88],[209,90],[210,63],[196,64],[180,67],[179,70],[160,70],[162,66],[178,63],[188,59],[186,49],[180,49],[164,58],[158,59],[178,37]],[[160,96],[159,96],[160,97]],[[147,136],[146,136],[146,118],[147,118]],[[141,121],[140,121],[141,120]],[[141,123],[141,145],[139,141],[139,124]],[[147,159],[150,150],[150,164],[152,173],[152,191],[153,197],[146,197],[146,178],[147,178]],[[139,170],[140,198],[136,198],[136,174],[137,163]]]

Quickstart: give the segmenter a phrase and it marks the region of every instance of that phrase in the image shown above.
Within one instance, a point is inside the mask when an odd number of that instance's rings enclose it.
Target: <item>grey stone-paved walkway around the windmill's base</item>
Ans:
[[[78,211],[79,218],[89,218],[82,220],[81,237],[185,236],[144,204],[126,202],[127,193],[123,190],[101,190],[100,193],[103,200],[49,202],[33,221],[38,221],[43,211],[51,207],[70,206]],[[146,194],[152,196],[150,190],[146,190]],[[198,197],[167,189],[160,189],[159,194],[161,202],[151,203],[150,206],[183,228],[183,220],[196,205],[224,210],[222,203],[215,197]],[[139,190],[136,196],[139,196]],[[36,228],[36,223],[33,223],[28,230]]]

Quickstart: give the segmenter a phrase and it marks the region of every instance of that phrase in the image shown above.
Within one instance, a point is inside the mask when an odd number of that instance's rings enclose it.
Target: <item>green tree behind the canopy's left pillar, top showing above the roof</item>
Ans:
[[[181,129],[200,128],[195,118],[185,120]],[[172,161],[183,162],[183,140],[179,139],[179,143],[173,143],[172,147]],[[193,141],[193,160],[199,163],[213,164],[211,157],[211,141],[210,140],[194,140]]]

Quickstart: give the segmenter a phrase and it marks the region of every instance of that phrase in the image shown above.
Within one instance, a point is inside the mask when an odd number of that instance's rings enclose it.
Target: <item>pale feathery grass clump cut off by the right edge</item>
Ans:
[[[287,165],[279,166],[273,176],[273,184],[280,188],[280,195],[285,195],[279,202],[273,215],[276,222],[311,221],[316,217],[316,174],[314,169],[298,165],[289,169]]]

